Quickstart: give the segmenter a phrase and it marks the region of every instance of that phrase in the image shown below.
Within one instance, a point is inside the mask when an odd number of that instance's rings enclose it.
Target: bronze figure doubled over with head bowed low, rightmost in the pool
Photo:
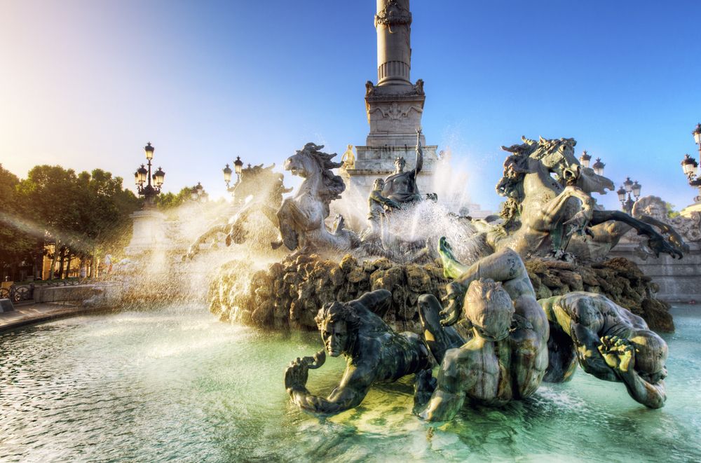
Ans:
[[[650,408],[665,405],[667,343],[644,319],[597,293],[576,291],[538,301],[550,321],[544,380],[569,380],[577,363],[601,380],[623,382]]]

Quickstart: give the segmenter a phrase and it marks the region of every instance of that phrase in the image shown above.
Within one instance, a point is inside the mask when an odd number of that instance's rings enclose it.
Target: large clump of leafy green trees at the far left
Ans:
[[[19,180],[0,166],[0,261],[39,254],[46,244],[81,258],[123,243],[142,201],[104,170],[38,165]],[[8,248],[8,249],[6,249]]]

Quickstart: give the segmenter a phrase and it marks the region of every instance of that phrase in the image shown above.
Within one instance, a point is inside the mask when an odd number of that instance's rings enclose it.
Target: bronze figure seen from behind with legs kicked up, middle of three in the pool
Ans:
[[[457,278],[449,284],[446,310],[433,295],[418,300],[424,337],[440,370],[437,381],[430,373],[417,377],[415,413],[430,421],[451,420],[465,399],[502,405],[530,396],[547,368],[549,329],[521,258],[506,248],[467,268],[444,238],[439,251],[444,268]],[[463,306],[468,340],[450,326]]]

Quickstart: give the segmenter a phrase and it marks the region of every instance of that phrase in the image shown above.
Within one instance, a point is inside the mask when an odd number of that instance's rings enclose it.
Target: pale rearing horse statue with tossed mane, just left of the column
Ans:
[[[285,170],[302,177],[304,181],[292,198],[286,198],[280,209],[271,214],[269,207],[263,211],[268,219],[280,230],[280,239],[271,243],[273,249],[285,244],[296,254],[306,254],[322,249],[347,251],[360,245],[355,233],[343,228],[343,217],[337,216],[334,230],[326,228],[325,219],[329,216],[329,204],[341,198],[346,189],[343,179],[332,172],[341,163],[332,160],[336,153],[323,153],[323,145],[308,143],[294,156],[285,160]],[[261,205],[258,206],[260,208]],[[229,239],[240,243],[245,240],[241,225],[252,208],[239,212]]]

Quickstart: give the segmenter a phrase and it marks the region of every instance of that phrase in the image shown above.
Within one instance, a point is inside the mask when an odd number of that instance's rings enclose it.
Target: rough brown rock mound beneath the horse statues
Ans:
[[[273,263],[253,272],[246,261],[222,265],[210,286],[210,311],[222,321],[272,329],[317,329],[314,317],[325,303],[353,300],[367,291],[392,291],[393,305],[384,317],[399,331],[420,333],[417,300],[421,294],[445,296],[448,280],[440,261],[396,264],[386,258],[340,262],[315,254]],[[571,291],[601,293],[643,317],[655,331],[674,331],[669,305],[654,298],[656,285],[624,258],[575,265],[534,258],[526,261],[538,298]]]

